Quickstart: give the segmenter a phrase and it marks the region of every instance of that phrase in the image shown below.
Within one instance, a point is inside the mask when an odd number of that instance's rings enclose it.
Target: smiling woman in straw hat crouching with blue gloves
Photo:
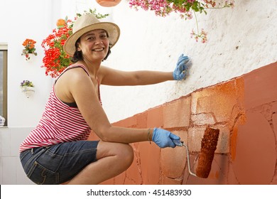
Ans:
[[[98,184],[131,165],[130,143],[153,141],[161,148],[175,147],[180,137],[164,129],[113,127],[104,113],[99,85],[150,85],[182,80],[188,57],[181,55],[174,72],[123,72],[101,65],[119,39],[119,27],[99,22],[92,14],[75,21],[64,50],[73,56],[55,81],[38,126],[20,146],[28,178],[37,184]],[[100,141],[87,141],[94,131]]]

